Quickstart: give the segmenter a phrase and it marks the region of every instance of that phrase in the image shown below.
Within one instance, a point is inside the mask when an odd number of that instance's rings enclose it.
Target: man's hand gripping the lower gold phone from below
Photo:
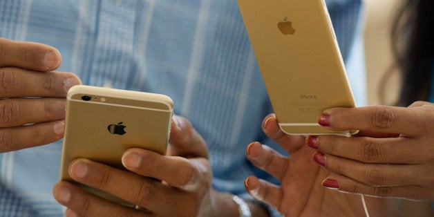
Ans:
[[[68,207],[66,214],[80,216],[212,216],[211,168],[202,137],[188,120],[174,116],[167,155],[144,149],[129,149],[123,155],[122,171],[77,159],[69,174],[75,181],[102,189],[146,211],[124,207],[98,198],[70,182],[53,189],[57,201]]]

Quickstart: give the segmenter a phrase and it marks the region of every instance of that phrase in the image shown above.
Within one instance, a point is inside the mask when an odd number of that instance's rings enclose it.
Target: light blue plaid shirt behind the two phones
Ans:
[[[364,105],[361,0],[327,1],[348,77]],[[0,0],[0,36],[62,53],[84,84],[169,95],[205,138],[213,187],[243,194],[249,142],[283,153],[261,130],[270,102],[234,0]],[[52,196],[62,141],[0,154],[0,216],[62,216]]]

